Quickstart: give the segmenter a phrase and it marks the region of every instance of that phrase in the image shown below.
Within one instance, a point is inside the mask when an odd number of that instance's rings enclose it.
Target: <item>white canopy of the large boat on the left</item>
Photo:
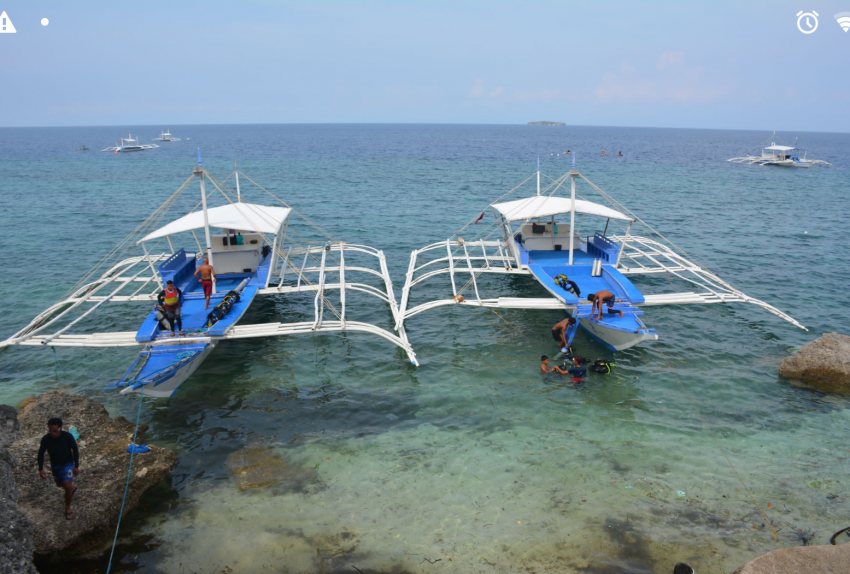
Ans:
[[[292,209],[288,207],[272,207],[256,203],[231,203],[207,210],[210,227],[234,229],[238,231],[254,231],[260,233],[277,233]],[[137,243],[174,235],[183,231],[204,228],[204,212],[193,211],[176,219],[156,231],[152,231]]]

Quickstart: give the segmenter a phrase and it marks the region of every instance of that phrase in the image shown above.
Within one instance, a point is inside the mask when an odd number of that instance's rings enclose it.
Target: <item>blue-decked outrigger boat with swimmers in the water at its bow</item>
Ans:
[[[752,303],[791,324],[805,327],[779,309],[735,289],[720,277],[691,260],[681,249],[643,223],[598,186],[579,173],[573,156],[572,170],[553,179],[541,189],[540,166],[537,168],[537,193],[507,201],[534,176],[490,205],[494,223],[478,228],[474,238],[465,239],[472,222],[452,237],[433,243],[410,255],[406,280],[401,295],[402,328],[411,317],[443,305],[503,309],[561,309],[577,319],[568,329],[572,342],[579,326],[613,350],[623,350],[647,341],[658,334],[643,321],[643,309],[653,305],[709,303]],[[576,195],[576,181],[582,179],[609,205],[589,201]],[[568,197],[556,195],[567,181]],[[486,212],[486,210],[485,210]],[[475,226],[485,216],[475,219]],[[568,216],[565,221],[565,217]],[[652,237],[634,235],[632,225],[645,226]],[[620,231],[614,231],[619,227]],[[548,297],[485,298],[484,275],[530,275],[549,294]],[[688,291],[646,293],[632,282],[666,274]],[[414,287],[436,276],[448,275],[451,297],[432,298],[411,306]],[[458,285],[458,276],[465,279]],[[578,289],[568,291],[569,281]],[[664,282],[667,283],[667,282]],[[445,289],[445,287],[443,287]],[[469,292],[471,289],[471,293]],[[600,291],[615,295],[614,313],[603,313],[601,320],[591,314],[587,295]],[[578,291],[575,293],[574,291]],[[443,291],[444,292],[444,291]],[[433,290],[432,290],[433,293]],[[622,317],[619,312],[622,311]]]

